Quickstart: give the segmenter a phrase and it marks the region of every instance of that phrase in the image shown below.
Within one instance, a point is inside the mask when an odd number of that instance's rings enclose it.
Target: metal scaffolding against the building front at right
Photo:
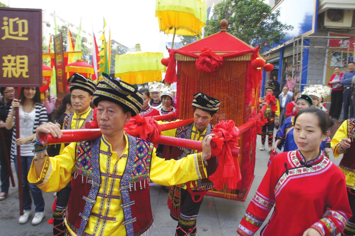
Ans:
[[[328,57],[333,55],[335,52],[338,52],[341,50],[341,58],[343,58],[343,52],[344,50],[347,50],[347,55],[349,55],[349,49],[350,49],[350,44],[347,45],[347,47],[328,47],[328,46],[314,46],[310,42],[306,41],[306,39],[324,39],[326,41],[326,45],[328,45],[328,40],[329,39],[350,39],[354,37],[334,37],[334,36],[298,36],[295,37],[293,40],[293,57],[292,57],[292,79],[294,79],[294,76],[296,74],[299,74],[298,79],[296,80],[296,90],[301,90],[301,86],[306,86],[309,85],[308,83],[302,84],[302,73],[307,71],[308,69],[312,68],[316,64],[320,63],[321,61],[326,60]],[[307,65],[303,65],[303,53],[304,49],[326,49],[327,53],[323,59],[317,58],[318,61],[317,63],[314,63],[313,65],[310,65],[309,63]],[[332,51],[329,51],[332,50]],[[335,50],[335,52],[333,52]],[[328,55],[327,55],[328,54]],[[354,54],[355,54],[355,49],[354,49]],[[309,56],[308,56],[309,57]],[[346,57],[346,64],[348,64],[348,57]],[[298,69],[299,68],[299,69]],[[307,68],[307,69],[305,69]]]

